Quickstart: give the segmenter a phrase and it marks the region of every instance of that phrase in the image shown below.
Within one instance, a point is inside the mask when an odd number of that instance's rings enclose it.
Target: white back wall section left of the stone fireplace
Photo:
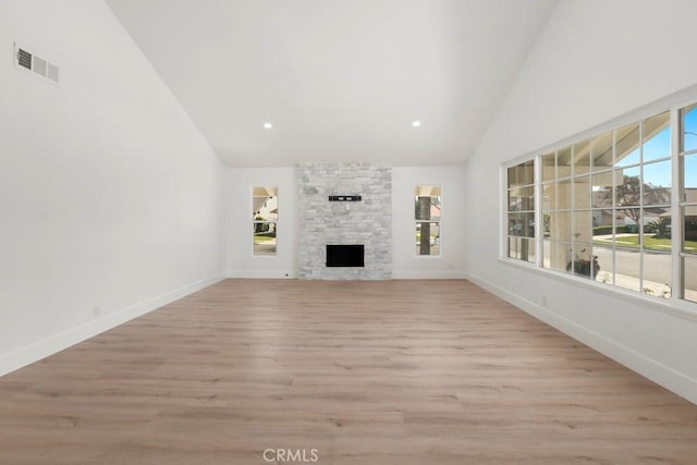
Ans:
[[[227,270],[231,278],[296,278],[295,168],[228,169],[225,174]],[[279,189],[277,256],[255,256],[252,187]]]

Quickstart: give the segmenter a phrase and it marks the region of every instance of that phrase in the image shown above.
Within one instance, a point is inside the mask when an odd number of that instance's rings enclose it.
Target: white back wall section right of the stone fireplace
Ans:
[[[417,256],[414,188],[441,186],[440,256]],[[477,222],[466,218],[465,171],[462,167],[392,168],[392,277],[395,279],[457,279],[464,274],[464,237]]]

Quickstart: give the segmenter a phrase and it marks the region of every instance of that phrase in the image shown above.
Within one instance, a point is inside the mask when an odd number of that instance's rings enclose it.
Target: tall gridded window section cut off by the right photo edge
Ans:
[[[682,281],[686,301],[697,302],[697,105],[683,108],[681,117]]]

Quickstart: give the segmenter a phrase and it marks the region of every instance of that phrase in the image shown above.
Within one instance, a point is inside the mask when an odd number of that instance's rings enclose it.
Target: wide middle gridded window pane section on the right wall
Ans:
[[[541,160],[542,266],[670,297],[670,113]]]

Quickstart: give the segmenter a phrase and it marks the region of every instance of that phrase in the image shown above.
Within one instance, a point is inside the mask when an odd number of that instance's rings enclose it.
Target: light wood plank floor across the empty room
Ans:
[[[695,464],[697,406],[466,281],[227,280],[0,378],[0,464],[274,463],[267,449]]]

